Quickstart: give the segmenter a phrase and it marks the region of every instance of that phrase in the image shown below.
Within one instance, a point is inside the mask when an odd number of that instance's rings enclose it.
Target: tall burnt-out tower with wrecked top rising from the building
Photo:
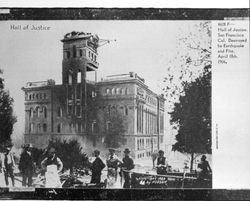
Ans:
[[[87,72],[98,69],[97,35],[84,32],[71,32],[64,36],[62,83],[67,89],[67,114],[71,118],[80,118],[85,122],[87,107]]]

